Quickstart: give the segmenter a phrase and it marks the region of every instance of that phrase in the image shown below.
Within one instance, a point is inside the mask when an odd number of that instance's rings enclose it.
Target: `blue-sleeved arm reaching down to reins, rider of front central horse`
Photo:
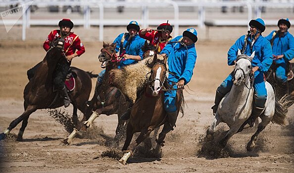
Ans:
[[[193,76],[193,70],[194,70],[195,63],[196,63],[196,58],[197,58],[196,49],[193,50],[193,48],[191,48],[186,53],[188,53],[187,63],[185,66],[185,70],[179,79],[179,81],[184,80],[185,85],[187,85],[191,81],[191,78]],[[187,56],[186,53],[185,53],[185,55],[183,54],[183,56]]]

